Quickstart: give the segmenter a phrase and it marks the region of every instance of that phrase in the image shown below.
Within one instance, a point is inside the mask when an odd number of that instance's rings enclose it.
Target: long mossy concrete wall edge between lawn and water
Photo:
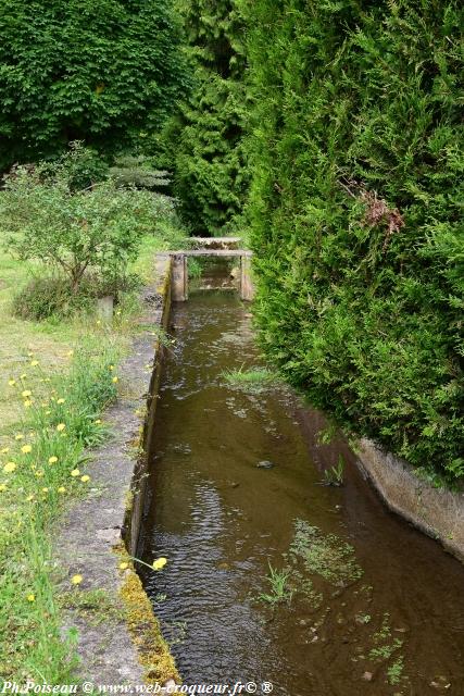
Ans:
[[[65,611],[63,634],[77,631],[78,676],[96,691],[100,685],[180,681],[130,559],[143,509],[171,273],[171,259],[158,256],[155,282],[142,295],[139,332],[120,370],[120,398],[104,418],[112,436],[92,452],[90,495],[74,502],[60,520],[53,545],[59,591],[68,593],[71,577],[80,574],[83,582],[73,592],[104,593],[112,606],[121,608],[99,621],[79,611],[79,602]]]

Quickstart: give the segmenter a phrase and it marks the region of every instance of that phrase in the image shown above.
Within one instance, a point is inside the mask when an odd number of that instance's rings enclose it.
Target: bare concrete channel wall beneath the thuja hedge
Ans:
[[[464,494],[435,488],[403,460],[363,438],[358,464],[390,510],[464,562]]]

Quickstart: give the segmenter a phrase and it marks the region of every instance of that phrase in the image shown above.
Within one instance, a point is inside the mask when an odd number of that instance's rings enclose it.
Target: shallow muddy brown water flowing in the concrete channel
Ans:
[[[168,559],[145,583],[185,683],[464,694],[464,568],[385,509],[343,442],[319,443],[321,414],[226,383],[259,363],[247,311],[199,293],[172,320],[139,554]],[[340,455],[343,487],[321,485]],[[269,563],[290,601],[259,598]]]

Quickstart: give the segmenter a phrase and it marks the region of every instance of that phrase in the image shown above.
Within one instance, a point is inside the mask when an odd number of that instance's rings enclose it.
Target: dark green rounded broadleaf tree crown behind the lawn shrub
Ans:
[[[159,128],[185,86],[167,0],[0,0],[0,170]]]

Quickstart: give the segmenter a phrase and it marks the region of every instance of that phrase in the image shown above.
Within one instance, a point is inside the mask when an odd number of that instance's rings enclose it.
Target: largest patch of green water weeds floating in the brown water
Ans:
[[[304,568],[329,583],[347,586],[362,577],[353,547],[336,534],[324,534],[305,520],[294,523],[290,552],[303,560]]]

